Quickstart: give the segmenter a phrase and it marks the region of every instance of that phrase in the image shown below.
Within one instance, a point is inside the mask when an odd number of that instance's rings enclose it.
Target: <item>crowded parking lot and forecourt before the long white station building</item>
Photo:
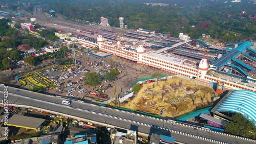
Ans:
[[[108,98],[111,99],[115,97],[114,85],[116,85],[117,93],[125,95],[126,91],[130,90],[131,86],[137,82],[137,79],[151,77],[151,74],[154,73],[154,71],[161,71],[159,69],[140,65],[136,62],[116,56],[101,59],[92,55],[80,55],[76,59],[77,61],[80,61],[80,63],[77,64],[77,70],[72,70],[74,69],[75,65],[70,64],[57,64],[58,66],[56,67],[50,66],[37,70],[38,73],[48,78],[54,84],[60,85],[50,89],[48,91],[49,93],[65,97],[84,98],[85,100],[91,101],[94,97],[93,95],[90,95],[90,97],[84,97],[84,95],[89,92],[99,92],[108,95]],[[114,59],[114,61],[118,63],[116,66],[118,70],[121,71],[118,78],[112,82],[104,82],[103,80],[101,85],[95,87],[83,85],[81,79],[85,73],[97,72],[102,76],[104,75],[102,69],[106,69],[107,67],[103,66],[104,63],[102,62],[108,61],[108,59]],[[161,73],[165,74],[164,71],[161,71]],[[170,74],[168,73],[168,75]],[[105,97],[104,95],[101,96]]]

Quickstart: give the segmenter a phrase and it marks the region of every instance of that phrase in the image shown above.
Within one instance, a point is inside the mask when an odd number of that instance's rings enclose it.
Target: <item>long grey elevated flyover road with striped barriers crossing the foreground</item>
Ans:
[[[4,98],[3,91],[5,91],[4,87],[0,86],[0,90],[2,91],[0,98],[3,99]],[[19,97],[16,94],[23,95],[25,97]],[[37,101],[37,100],[40,100],[40,101]],[[9,104],[28,105],[28,106],[38,107],[46,110],[51,110],[59,113],[81,117],[81,118],[91,119],[92,121],[101,122],[101,123],[106,121],[106,123],[110,125],[114,125],[114,126],[118,126],[126,129],[130,129],[131,125],[136,125],[138,126],[139,132],[143,132],[147,134],[151,134],[152,132],[167,134],[170,132],[168,130],[173,130],[175,132],[171,132],[171,135],[175,137],[177,141],[181,141],[185,143],[191,143],[191,141],[194,141],[194,140],[198,140],[198,142],[196,143],[210,143],[210,141],[204,141],[203,139],[195,138],[193,136],[214,139],[214,140],[218,140],[226,143],[254,143],[255,142],[255,141],[251,141],[250,139],[240,138],[237,136],[230,136],[230,135],[222,134],[218,132],[205,131],[202,128],[197,128],[195,130],[194,126],[188,126],[180,123],[175,123],[174,124],[175,126],[172,126],[171,122],[164,121],[162,119],[146,117],[136,113],[115,110],[112,108],[105,108],[105,107],[101,107],[93,104],[80,103],[77,101],[72,101],[70,107],[67,107],[67,106],[65,107],[61,104],[62,100],[63,99],[52,97],[50,95],[45,95],[45,94],[31,92],[31,91],[22,90],[22,89],[17,91],[16,88],[8,87],[8,103]],[[45,103],[44,101],[48,101],[49,103]],[[147,125],[144,125],[144,124],[147,124]],[[177,131],[184,132],[188,135],[176,133]]]

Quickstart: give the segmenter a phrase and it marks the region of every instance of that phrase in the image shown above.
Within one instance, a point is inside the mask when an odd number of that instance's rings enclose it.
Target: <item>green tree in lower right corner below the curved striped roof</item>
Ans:
[[[226,132],[247,138],[255,138],[254,133],[256,129],[254,124],[251,124],[242,114],[236,113],[231,117],[232,121],[229,121],[226,125]]]

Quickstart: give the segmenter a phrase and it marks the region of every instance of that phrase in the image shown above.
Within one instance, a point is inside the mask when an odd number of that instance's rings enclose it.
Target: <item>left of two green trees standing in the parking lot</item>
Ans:
[[[96,86],[101,83],[101,76],[96,72],[84,74],[83,83],[85,85]]]

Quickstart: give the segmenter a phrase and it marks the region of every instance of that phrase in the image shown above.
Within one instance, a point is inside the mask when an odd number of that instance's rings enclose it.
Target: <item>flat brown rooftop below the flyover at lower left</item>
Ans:
[[[11,118],[9,118],[8,125],[37,129],[42,123],[45,122],[45,120],[46,119],[23,116],[23,115],[13,115]]]

